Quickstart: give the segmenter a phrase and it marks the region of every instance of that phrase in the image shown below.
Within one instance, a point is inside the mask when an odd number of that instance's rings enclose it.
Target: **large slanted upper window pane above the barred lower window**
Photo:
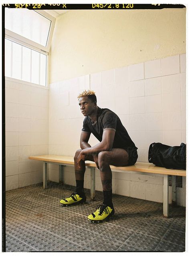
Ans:
[[[51,20],[34,10],[5,8],[5,28],[46,46]]]

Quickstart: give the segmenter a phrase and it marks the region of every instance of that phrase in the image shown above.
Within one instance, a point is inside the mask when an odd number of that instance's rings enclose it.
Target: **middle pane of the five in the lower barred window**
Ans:
[[[22,80],[31,81],[31,55],[32,50],[22,46]]]

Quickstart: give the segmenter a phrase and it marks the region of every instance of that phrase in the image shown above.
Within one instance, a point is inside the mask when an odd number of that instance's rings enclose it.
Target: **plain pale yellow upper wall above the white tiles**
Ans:
[[[55,25],[49,82],[186,52],[186,9],[70,10]]]

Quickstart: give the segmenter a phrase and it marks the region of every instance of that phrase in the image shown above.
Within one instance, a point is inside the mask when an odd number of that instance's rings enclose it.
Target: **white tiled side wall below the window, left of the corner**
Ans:
[[[42,163],[28,156],[48,154],[49,90],[20,80],[5,81],[6,190],[42,182]]]

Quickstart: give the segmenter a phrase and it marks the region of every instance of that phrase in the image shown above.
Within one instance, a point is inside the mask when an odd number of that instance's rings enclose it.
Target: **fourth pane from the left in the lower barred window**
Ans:
[[[31,82],[34,84],[40,83],[40,53],[37,51],[32,51],[32,76],[31,76]]]

